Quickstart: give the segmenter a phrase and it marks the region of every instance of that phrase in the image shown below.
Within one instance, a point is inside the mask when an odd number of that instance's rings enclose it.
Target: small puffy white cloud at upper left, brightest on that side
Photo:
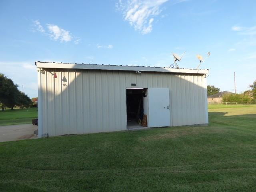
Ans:
[[[50,37],[54,40],[60,40],[60,42],[69,42],[72,40],[73,37],[69,31],[64,30],[53,24],[47,24],[47,26],[50,32]]]

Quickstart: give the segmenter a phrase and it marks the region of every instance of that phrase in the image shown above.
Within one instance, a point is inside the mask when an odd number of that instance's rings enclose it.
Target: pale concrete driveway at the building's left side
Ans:
[[[36,129],[38,126],[33,124],[0,126],[0,142],[37,138],[34,134]]]

